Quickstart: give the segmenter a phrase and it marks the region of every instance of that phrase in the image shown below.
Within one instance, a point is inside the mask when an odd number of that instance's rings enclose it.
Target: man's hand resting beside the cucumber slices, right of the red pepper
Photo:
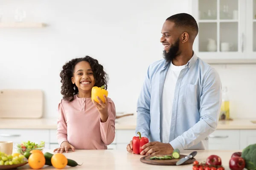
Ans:
[[[140,153],[141,155],[146,154],[146,156],[150,155],[159,155],[159,154],[170,154],[173,152],[173,147],[169,143],[161,143],[161,142],[149,142],[142,146],[143,151]]]

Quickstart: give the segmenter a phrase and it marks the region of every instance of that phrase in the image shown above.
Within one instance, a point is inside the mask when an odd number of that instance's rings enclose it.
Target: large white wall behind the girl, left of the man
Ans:
[[[188,0],[1,0],[2,22],[24,21],[47,28],[0,30],[0,89],[44,91],[44,117],[57,117],[62,65],[90,55],[109,74],[109,97],[117,112],[136,111],[148,65],[162,58],[161,28],[172,14],[189,12]],[[114,64],[115,62],[115,64]]]

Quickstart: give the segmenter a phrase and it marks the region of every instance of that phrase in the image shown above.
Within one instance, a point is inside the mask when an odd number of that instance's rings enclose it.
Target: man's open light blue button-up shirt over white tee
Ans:
[[[152,63],[137,102],[137,127],[150,142],[160,141],[160,114],[169,62]],[[196,56],[180,71],[172,107],[169,143],[174,149],[208,149],[208,136],[217,128],[221,108],[221,80],[210,65]]]

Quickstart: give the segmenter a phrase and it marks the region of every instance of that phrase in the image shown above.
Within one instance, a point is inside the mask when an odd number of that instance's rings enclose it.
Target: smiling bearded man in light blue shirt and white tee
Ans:
[[[152,63],[137,102],[136,133],[149,138],[140,154],[169,154],[174,149],[207,149],[217,128],[221,80],[193,51],[198,25],[189,14],[163,24],[163,59]],[[132,141],[127,145],[132,151]]]

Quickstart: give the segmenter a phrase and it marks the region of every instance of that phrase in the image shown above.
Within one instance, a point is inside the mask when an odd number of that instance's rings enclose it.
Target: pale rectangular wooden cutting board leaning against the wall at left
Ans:
[[[30,89],[0,90],[0,118],[41,118],[43,92]]]

